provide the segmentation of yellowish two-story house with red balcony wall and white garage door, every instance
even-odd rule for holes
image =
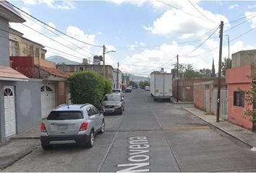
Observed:
[[[41,114],[46,117],[57,105],[68,103],[69,75],[56,69],[55,63],[46,60],[43,45],[23,37],[21,32],[12,28],[9,28],[9,33],[12,68],[30,79],[40,79]]]

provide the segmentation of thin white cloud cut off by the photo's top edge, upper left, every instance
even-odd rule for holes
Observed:
[[[27,5],[46,4],[51,9],[74,9],[74,4],[72,1],[25,0],[24,4],[27,4]]]

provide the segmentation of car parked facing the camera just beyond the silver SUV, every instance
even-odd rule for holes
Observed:
[[[124,111],[124,97],[120,93],[106,94],[101,102],[103,112],[122,114]]]

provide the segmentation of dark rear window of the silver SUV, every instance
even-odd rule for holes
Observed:
[[[80,111],[51,111],[47,120],[79,120],[82,118]]]

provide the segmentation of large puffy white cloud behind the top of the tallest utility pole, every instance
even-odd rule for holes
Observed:
[[[178,9],[169,9],[168,11],[164,12],[161,17],[155,19],[153,25],[144,27],[145,30],[150,31],[155,35],[176,35],[179,38],[188,38],[204,35],[205,32],[208,32],[208,30],[217,27],[218,22],[221,20],[225,23],[228,22],[228,19],[223,15],[213,14],[212,12],[202,9],[200,6],[197,6],[197,4],[195,4],[197,9],[199,9],[200,12],[205,14],[205,16],[213,22],[198,14],[197,10],[193,8],[193,6],[189,6],[188,3],[181,5],[183,5],[182,10],[202,19],[193,17]],[[229,27],[229,24],[226,25],[226,27]]]

